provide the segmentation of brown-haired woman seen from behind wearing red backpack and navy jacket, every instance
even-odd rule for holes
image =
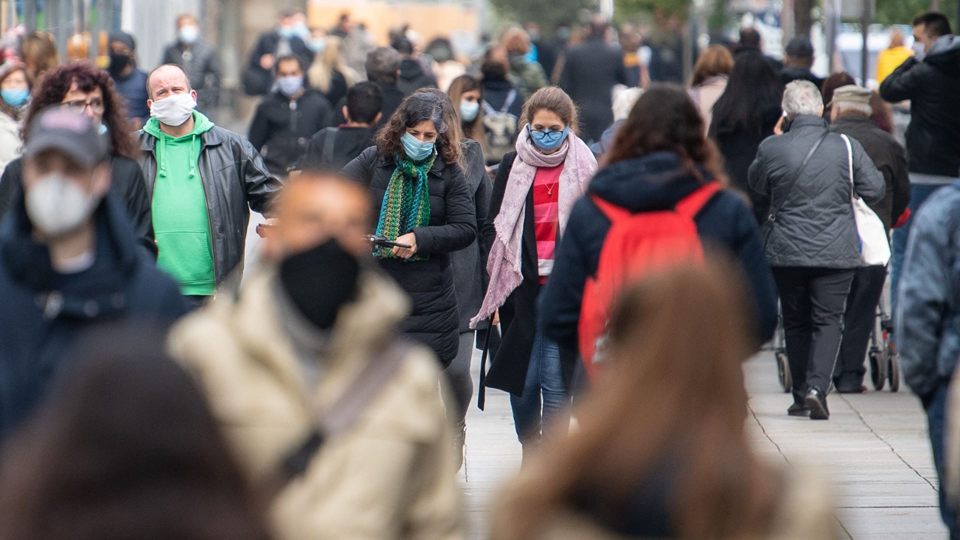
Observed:
[[[683,254],[684,241],[699,243],[701,254],[704,248],[719,248],[736,258],[751,285],[746,304],[752,317],[746,328],[754,331],[756,346],[773,336],[777,291],[756,221],[740,195],[723,189],[716,149],[704,133],[703,116],[681,86],[658,83],[643,92],[607,154],[607,165],[590,183],[588,197],[570,214],[540,302],[540,328],[548,338],[571,351],[593,351],[595,342],[581,342],[586,336],[581,329],[588,328],[594,313],[591,299],[599,298],[594,287],[602,286],[596,282],[602,262],[618,250],[638,250],[622,253],[624,278],[636,280],[664,262],[691,260],[676,255]],[[672,209],[693,226],[687,231],[696,238],[684,236],[675,222],[656,221]],[[610,306],[601,307],[607,312]],[[589,367],[592,357],[582,356]]]

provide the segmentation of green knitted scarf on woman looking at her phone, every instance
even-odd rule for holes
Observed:
[[[430,191],[427,188],[427,172],[433,168],[437,159],[434,154],[428,160],[415,163],[399,153],[394,155],[396,170],[387,184],[383,195],[383,207],[380,209],[380,221],[376,224],[376,233],[391,239],[410,233],[418,227],[430,224]],[[373,257],[398,258],[390,253],[390,248],[375,248]],[[402,260],[426,260],[428,254],[417,254]]]

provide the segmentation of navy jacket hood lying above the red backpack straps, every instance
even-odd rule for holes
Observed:
[[[684,167],[673,152],[657,152],[617,161],[597,173],[589,191],[632,212],[671,209],[698,187],[712,180],[701,166]]]

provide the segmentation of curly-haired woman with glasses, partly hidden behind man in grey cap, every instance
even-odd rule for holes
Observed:
[[[24,126],[29,126],[40,110],[58,104],[100,124],[100,132],[109,139],[110,192],[125,203],[139,243],[156,258],[147,183],[139,165],[132,160],[136,146],[127,123],[127,112],[109,74],[90,61],[71,61],[48,72],[34,87]],[[28,142],[26,130],[23,142]],[[23,200],[21,174],[20,160],[12,160],[0,178],[0,217],[6,215],[16,201]]]

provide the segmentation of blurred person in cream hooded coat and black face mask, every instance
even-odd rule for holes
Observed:
[[[292,179],[276,265],[171,332],[248,477],[277,490],[281,539],[463,538],[437,360],[400,340],[410,303],[364,257],[371,207],[362,184]]]

